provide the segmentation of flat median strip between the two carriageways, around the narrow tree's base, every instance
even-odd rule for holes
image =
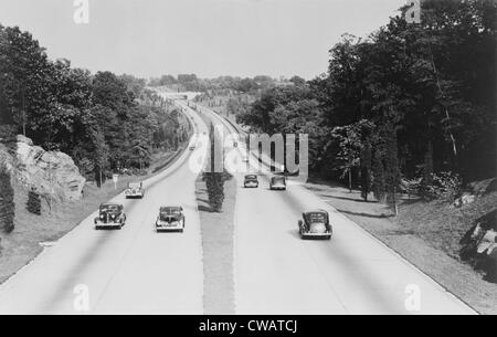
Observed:
[[[233,231],[236,180],[224,182],[222,212],[212,212],[205,182],[195,183],[203,250],[203,303],[205,315],[234,315]]]

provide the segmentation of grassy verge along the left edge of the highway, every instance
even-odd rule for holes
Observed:
[[[14,182],[15,228],[12,233],[0,233],[0,284],[35,259],[42,251],[41,243],[57,241],[96,211],[101,203],[121,193],[128,182],[145,180],[166,169],[173,162],[178,151],[157,154],[146,176],[120,176],[115,189],[107,180],[102,188],[87,182],[83,198],[74,202],[52,202],[52,207],[42,200],[42,215],[27,210],[28,189]],[[158,169],[159,168],[159,169]]]

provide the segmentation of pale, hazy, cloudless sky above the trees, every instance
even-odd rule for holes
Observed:
[[[342,33],[366,36],[405,0],[0,0],[0,23],[33,33],[52,59],[138,76],[326,72]]]

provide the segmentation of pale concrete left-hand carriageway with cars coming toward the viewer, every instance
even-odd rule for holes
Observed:
[[[197,114],[187,114],[198,133],[207,131]],[[0,314],[202,314],[197,175],[189,156],[147,180],[144,200],[112,200],[125,206],[123,230],[94,230],[95,212],[3,283]],[[183,207],[184,233],[155,232],[159,207],[168,204]]]

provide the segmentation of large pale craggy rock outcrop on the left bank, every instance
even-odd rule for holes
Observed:
[[[86,181],[70,156],[45,151],[24,136],[18,136],[17,140],[14,176],[18,181],[60,201],[81,198]]]

